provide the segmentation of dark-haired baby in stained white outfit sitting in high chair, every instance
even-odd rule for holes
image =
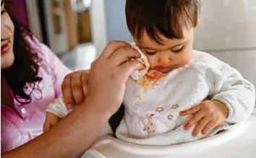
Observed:
[[[199,10],[197,0],[127,0],[132,46],[146,69],[126,83],[118,139],[147,146],[182,144],[236,126],[252,113],[253,84],[227,63],[192,50]],[[59,117],[69,112],[59,101],[47,111]]]

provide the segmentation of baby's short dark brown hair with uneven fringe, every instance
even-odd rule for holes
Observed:
[[[142,32],[162,45],[160,35],[168,39],[183,38],[182,30],[196,27],[199,0],[127,0],[127,27],[138,40]]]

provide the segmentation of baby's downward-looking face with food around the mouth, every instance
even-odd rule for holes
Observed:
[[[150,62],[150,69],[168,73],[189,62],[192,55],[194,28],[183,31],[183,39],[170,40],[162,38],[163,45],[151,40],[147,33],[142,34],[140,42],[134,38],[136,45],[143,51]]]

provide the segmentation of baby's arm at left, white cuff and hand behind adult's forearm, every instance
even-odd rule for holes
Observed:
[[[47,131],[49,128],[59,122],[60,118],[64,118],[70,111],[64,104],[62,95],[56,98],[46,109],[46,120],[43,124],[43,131]]]

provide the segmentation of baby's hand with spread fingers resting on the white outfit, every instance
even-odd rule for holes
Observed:
[[[223,102],[218,100],[206,100],[199,105],[195,105],[188,110],[179,113],[180,115],[192,115],[192,118],[184,126],[184,130],[188,130],[194,124],[197,124],[192,136],[198,133],[207,134],[216,126],[223,123],[229,114],[229,110]]]

